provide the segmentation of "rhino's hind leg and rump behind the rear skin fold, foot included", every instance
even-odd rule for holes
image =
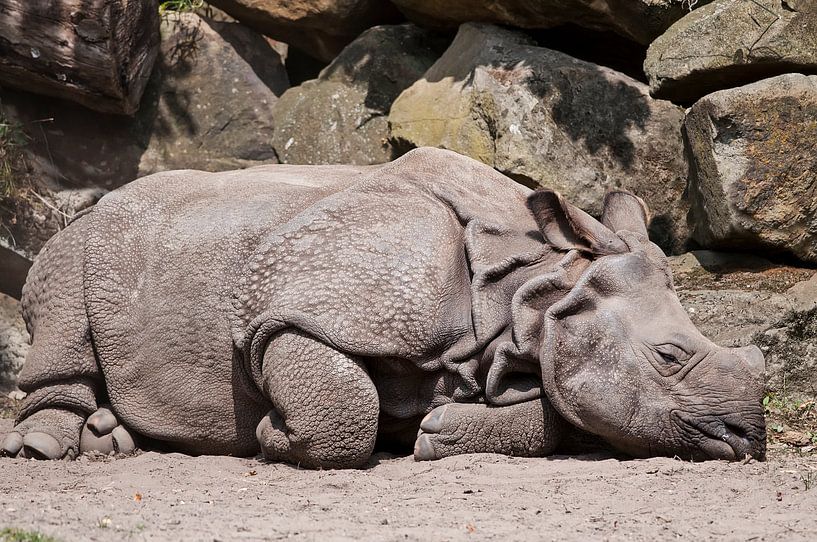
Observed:
[[[43,247],[23,289],[32,345],[20,374],[28,393],[0,453],[40,459],[74,457],[80,431],[104,389],[83,296],[87,219],[80,217]]]

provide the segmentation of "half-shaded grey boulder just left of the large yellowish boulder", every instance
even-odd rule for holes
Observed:
[[[289,89],[275,104],[278,159],[358,165],[391,160],[391,104],[437,60],[441,45],[412,24],[361,34],[317,79]]]

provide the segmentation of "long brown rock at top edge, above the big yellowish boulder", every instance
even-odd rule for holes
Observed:
[[[392,0],[419,24],[440,28],[480,21],[520,28],[552,28],[574,23],[597,30],[613,30],[647,45],[686,14],[689,4],[708,0]]]

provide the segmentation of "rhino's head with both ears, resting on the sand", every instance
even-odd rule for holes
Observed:
[[[543,318],[542,383],[562,416],[635,456],[762,459],[763,354],[695,328],[643,201],[611,192],[600,222],[554,192],[528,204],[552,246],[590,261]]]

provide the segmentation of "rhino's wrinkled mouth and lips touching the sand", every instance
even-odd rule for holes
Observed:
[[[735,461],[746,456],[762,460],[765,435],[756,438],[754,431],[733,417],[698,417],[675,412],[695,447],[709,459]]]

